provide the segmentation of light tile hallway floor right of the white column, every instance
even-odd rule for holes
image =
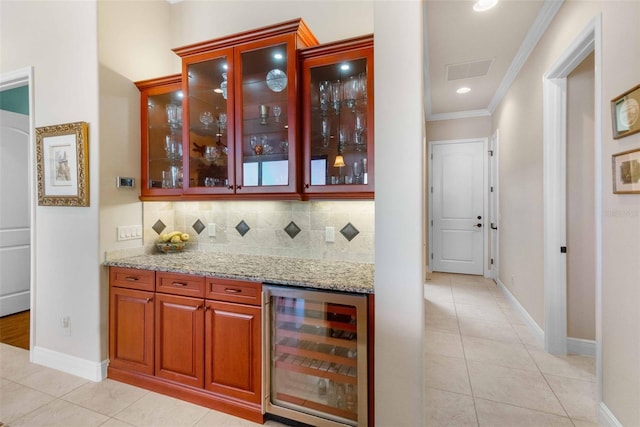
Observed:
[[[595,360],[552,356],[492,280],[425,285],[426,426],[597,426]]]

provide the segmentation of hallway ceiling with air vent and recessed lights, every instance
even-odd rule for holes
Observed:
[[[491,115],[562,0],[501,0],[485,12],[474,3],[424,2],[427,120]]]

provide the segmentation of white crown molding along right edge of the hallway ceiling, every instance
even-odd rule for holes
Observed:
[[[509,69],[505,73],[502,82],[500,82],[500,86],[498,86],[496,93],[493,95],[491,102],[489,102],[489,105],[487,106],[487,110],[489,110],[491,114],[493,114],[498,105],[500,105],[500,102],[502,102],[502,98],[504,98],[511,87],[511,84],[516,77],[518,77],[518,73],[522,69],[522,66],[527,62],[529,55],[531,55],[531,52],[533,52],[533,49],[535,49],[540,39],[547,31],[547,28],[549,28],[551,21],[553,21],[553,18],[555,18],[563,3],[564,0],[545,0],[540,12],[538,12],[536,20],[529,29],[520,49],[516,53]]]

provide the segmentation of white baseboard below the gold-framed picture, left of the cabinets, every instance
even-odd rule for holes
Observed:
[[[33,347],[31,361],[67,374],[99,382],[107,377],[108,360],[92,362],[42,347]]]

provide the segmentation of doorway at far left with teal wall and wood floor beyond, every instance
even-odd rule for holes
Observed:
[[[0,74],[0,333],[2,341],[30,350],[34,316],[33,68]]]

